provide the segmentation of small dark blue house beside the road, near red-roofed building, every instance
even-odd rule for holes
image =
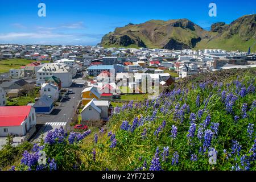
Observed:
[[[36,101],[33,107],[35,108],[36,113],[51,114],[54,107],[53,100],[50,97],[43,95],[38,101]]]

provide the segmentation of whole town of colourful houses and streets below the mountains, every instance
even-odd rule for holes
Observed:
[[[97,130],[114,107],[143,101],[180,78],[256,67],[256,55],[222,49],[0,46],[0,146],[38,142],[59,127]],[[143,77],[149,85],[143,88]]]

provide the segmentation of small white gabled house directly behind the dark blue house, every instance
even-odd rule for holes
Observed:
[[[49,96],[52,100],[57,101],[59,98],[59,89],[56,85],[53,84],[42,84],[40,90],[40,96]]]

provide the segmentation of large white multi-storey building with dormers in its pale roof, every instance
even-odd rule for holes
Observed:
[[[72,71],[65,64],[48,63],[37,66],[36,70],[36,85],[44,84],[46,77],[55,76],[60,78],[62,87],[69,87],[72,85]]]

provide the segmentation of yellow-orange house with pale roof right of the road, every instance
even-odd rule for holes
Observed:
[[[90,101],[92,101],[93,98],[98,100],[100,97],[101,97],[101,94],[98,93],[98,90],[96,87],[91,86],[91,87],[85,88],[84,90],[82,90],[82,105],[85,106]]]

